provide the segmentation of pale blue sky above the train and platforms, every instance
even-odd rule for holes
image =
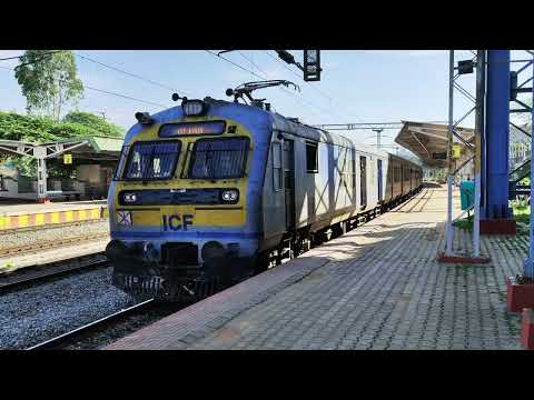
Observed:
[[[105,112],[108,121],[125,129],[131,127],[137,111],[158,112],[171,101],[174,91],[188,98],[210,96],[228,99],[227,88],[260,80],[205,50],[72,50],[78,74],[86,86],[77,104],[81,111]],[[301,50],[290,50],[301,62]],[[0,59],[20,56],[23,50],[0,50]],[[140,76],[156,83],[105,68],[80,56]],[[322,50],[322,79],[304,82],[303,72],[277,58],[273,50],[241,50],[222,54],[268,79],[287,79],[300,87],[268,88],[256,92],[267,98],[273,109],[286,117],[298,117],[308,124],[408,121],[446,121],[448,118],[447,50]],[[465,56],[465,57],[464,57]],[[463,58],[462,58],[463,57]],[[457,59],[473,58],[459,51]],[[0,110],[26,113],[26,98],[9,70],[18,60],[0,61]],[[464,79],[464,77],[462,77]],[[473,90],[474,74],[465,76],[462,84]],[[106,90],[156,104],[142,103],[90,90]],[[175,89],[175,90],[172,90]],[[458,96],[456,96],[457,98]],[[455,99],[456,99],[455,98]],[[467,110],[462,96],[455,108]],[[472,119],[466,120],[467,127]],[[384,143],[392,143],[396,131],[384,131]],[[372,131],[352,131],[347,136],[373,143]]]

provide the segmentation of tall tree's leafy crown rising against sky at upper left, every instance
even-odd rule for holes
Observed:
[[[27,50],[20,61],[14,77],[29,113],[39,111],[59,121],[63,106],[76,103],[82,97],[83,84],[77,77],[71,51]]]

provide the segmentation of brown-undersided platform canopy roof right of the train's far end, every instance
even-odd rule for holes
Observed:
[[[395,138],[395,142],[412,151],[426,167],[443,168],[447,162],[447,124],[402,121],[403,128]],[[457,127],[454,129],[459,136],[455,141],[462,146],[462,153],[466,153],[466,146],[462,142],[473,142],[474,130]]]

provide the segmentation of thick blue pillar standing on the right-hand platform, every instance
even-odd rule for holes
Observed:
[[[508,219],[510,50],[487,51],[485,203],[481,219]]]

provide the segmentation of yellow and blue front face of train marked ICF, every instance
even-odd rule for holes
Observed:
[[[195,282],[254,268],[257,218],[247,210],[258,208],[249,186],[261,163],[253,157],[255,124],[219,111],[162,116],[126,138],[108,199],[106,250],[120,289],[180,298]]]

